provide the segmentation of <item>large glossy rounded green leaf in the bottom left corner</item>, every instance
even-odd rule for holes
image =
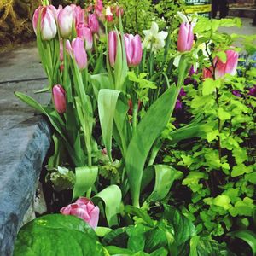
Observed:
[[[84,220],[71,215],[50,214],[23,226],[15,241],[15,256],[109,255]]]

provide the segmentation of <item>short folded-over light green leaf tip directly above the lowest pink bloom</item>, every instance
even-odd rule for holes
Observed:
[[[93,186],[98,176],[98,166],[77,167],[75,172],[76,183],[73,188],[73,199],[83,196]]]

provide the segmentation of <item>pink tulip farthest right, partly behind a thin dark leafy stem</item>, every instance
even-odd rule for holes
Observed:
[[[215,78],[220,79],[224,77],[226,73],[230,73],[231,75],[236,74],[236,67],[238,63],[238,53],[235,50],[228,49],[225,51],[227,56],[227,60],[222,62],[218,57],[214,59],[214,63],[216,64],[215,69]]]

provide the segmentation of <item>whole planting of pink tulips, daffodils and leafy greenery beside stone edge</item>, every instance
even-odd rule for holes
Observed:
[[[131,26],[132,4],[35,11],[52,103],[15,95],[53,126],[45,179],[67,197],[20,229],[15,255],[255,254],[255,37],[179,1],[145,1]]]

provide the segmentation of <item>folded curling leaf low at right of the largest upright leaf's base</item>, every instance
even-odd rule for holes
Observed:
[[[154,190],[148,196],[147,201],[159,201],[166,197],[172,187],[177,174],[177,170],[172,166],[155,165],[152,166],[155,172]]]

